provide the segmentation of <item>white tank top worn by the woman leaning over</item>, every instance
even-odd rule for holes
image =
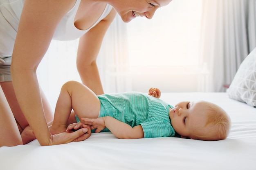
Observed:
[[[0,58],[12,55],[24,1],[25,0],[0,0]],[[74,7],[63,17],[54,32],[53,39],[73,40],[81,37],[105,18],[112,9],[112,6],[107,4],[101,17],[99,17],[89,29],[79,30],[74,25],[74,17],[80,2],[81,0],[77,0]]]

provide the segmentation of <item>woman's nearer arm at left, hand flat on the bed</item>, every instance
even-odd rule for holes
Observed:
[[[51,135],[36,76],[38,64],[49,47],[58,22],[74,3],[75,0],[26,0],[13,48],[13,87],[22,112],[42,146],[71,142],[86,130],[71,135]]]

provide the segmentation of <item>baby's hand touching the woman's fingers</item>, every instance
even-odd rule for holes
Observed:
[[[91,126],[91,129],[96,129],[95,133],[98,133],[106,128],[104,117],[102,118],[81,118],[80,120],[83,124],[88,124]]]

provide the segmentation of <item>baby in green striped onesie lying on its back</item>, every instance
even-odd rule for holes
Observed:
[[[159,99],[159,89],[150,88],[148,94],[126,92],[96,96],[85,85],[69,81],[61,88],[49,129],[56,134],[87,127],[88,137],[94,129],[95,133],[111,131],[122,139],[173,137],[175,133],[199,140],[227,137],[230,120],[217,105],[194,101],[180,102],[173,107]]]

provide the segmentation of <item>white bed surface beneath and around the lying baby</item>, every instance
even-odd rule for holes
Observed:
[[[256,108],[229,99],[226,93],[163,93],[175,105],[184,100],[207,100],[231,118],[231,131],[221,141],[177,137],[117,139],[95,133],[82,142],[0,148],[0,170],[256,170]]]

